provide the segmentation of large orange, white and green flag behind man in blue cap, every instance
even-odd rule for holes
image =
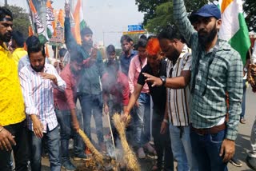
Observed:
[[[226,40],[241,55],[246,63],[246,53],[250,48],[250,38],[246,21],[243,16],[242,0],[219,0],[222,12],[222,26],[219,38]]]

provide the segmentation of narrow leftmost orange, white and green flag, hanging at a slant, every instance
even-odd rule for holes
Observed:
[[[37,31],[38,39],[42,44],[44,44],[48,41],[46,30],[42,25],[42,20],[41,20],[40,16],[38,15],[37,10],[35,9],[33,2],[30,0],[29,3],[30,3],[30,10],[31,10],[31,13],[33,16],[33,23],[35,23],[35,25],[36,25],[35,30]]]

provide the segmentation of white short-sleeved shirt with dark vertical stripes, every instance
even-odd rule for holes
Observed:
[[[175,78],[181,75],[182,71],[191,70],[191,54],[190,49],[184,45],[182,54],[180,54],[177,62],[168,60],[166,66],[167,78]],[[171,72],[171,73],[170,73]],[[170,75],[171,74],[171,75]],[[189,117],[189,100],[190,87],[185,89],[170,89],[167,88],[167,113],[170,122],[174,126],[187,126],[190,124]]]

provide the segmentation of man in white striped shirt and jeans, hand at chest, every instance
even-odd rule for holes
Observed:
[[[38,38],[31,36],[26,42],[30,65],[19,72],[25,99],[27,126],[30,129],[30,165],[34,171],[41,170],[42,142],[50,157],[50,169],[60,170],[58,121],[54,112],[54,88],[64,91],[66,82],[57,74],[54,66],[46,64],[44,47]]]

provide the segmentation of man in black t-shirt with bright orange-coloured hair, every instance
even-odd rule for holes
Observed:
[[[138,76],[138,84],[134,88],[134,93],[130,96],[129,104],[126,108],[122,120],[126,121],[126,117],[129,115],[130,110],[137,101],[143,85],[146,83],[146,77],[143,73],[154,75],[155,77],[165,76],[166,78],[166,61],[162,58],[161,49],[157,38],[149,40],[146,46],[147,51],[147,65],[142,68],[142,72]],[[150,94],[153,99],[153,119],[152,119],[152,134],[154,137],[154,145],[158,155],[157,165],[154,165],[152,170],[162,169],[162,157],[164,156],[164,170],[174,170],[173,154],[170,145],[170,133],[161,134],[161,123],[164,120],[164,114],[166,109],[166,87],[165,86],[151,86]],[[165,154],[165,155],[164,155]]]

